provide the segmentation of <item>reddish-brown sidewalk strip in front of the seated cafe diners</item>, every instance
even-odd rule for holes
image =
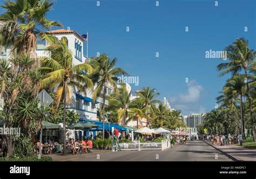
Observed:
[[[107,153],[110,152],[110,150],[91,150],[91,153],[87,153],[87,154],[77,154],[77,155],[66,155],[63,156],[62,154],[51,154],[51,155],[44,155],[44,156],[49,156],[52,158],[52,161],[58,161],[58,162],[64,162],[64,161],[70,161],[73,159],[77,159],[80,157],[85,157],[85,156],[89,156],[89,155],[97,155],[97,154],[103,154],[103,153]]]

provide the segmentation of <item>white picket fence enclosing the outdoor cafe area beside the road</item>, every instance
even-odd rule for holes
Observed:
[[[171,147],[170,140],[163,140],[161,142],[139,142],[133,141],[130,143],[119,143],[120,149],[123,151],[131,150],[164,150]]]

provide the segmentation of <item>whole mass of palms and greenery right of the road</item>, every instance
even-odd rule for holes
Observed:
[[[210,133],[242,134],[244,137],[253,136],[255,141],[255,54],[249,48],[248,40],[235,39],[225,48],[228,61],[221,63],[217,69],[219,77],[231,73],[227,79],[217,103],[220,104],[207,114],[206,121],[201,127]],[[245,133],[245,129],[248,132]],[[250,132],[249,132],[250,131]]]

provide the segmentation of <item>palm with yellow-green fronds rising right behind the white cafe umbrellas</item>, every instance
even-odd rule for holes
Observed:
[[[145,110],[145,115],[147,117],[147,126],[150,125],[149,120],[154,118],[155,106],[160,104],[161,101],[155,99],[160,93],[156,92],[156,89],[151,89],[150,87],[143,87],[141,91],[137,92],[138,100],[143,103],[143,109]]]

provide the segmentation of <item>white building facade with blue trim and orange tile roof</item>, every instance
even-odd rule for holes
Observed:
[[[84,43],[86,40],[80,36],[74,30],[53,30],[48,31],[51,35],[57,37],[59,40],[63,37],[66,38],[68,42],[69,50],[72,52],[72,65],[78,65],[89,61],[89,58],[84,56]],[[50,53],[45,51],[45,47],[49,44],[47,42],[43,44],[37,44],[37,57],[50,57]],[[1,48],[0,58],[10,59],[11,49]],[[97,83],[94,84],[93,89],[97,87]],[[67,109],[76,111],[80,115],[80,120],[98,120],[97,119],[97,110],[103,104],[102,94],[99,95],[96,102],[92,100],[92,90],[86,90],[86,95],[79,92],[76,87],[69,87],[70,91],[70,101],[71,103],[67,106]],[[111,94],[113,91],[111,85],[107,84],[107,95]],[[106,100],[106,105],[109,102]]]

